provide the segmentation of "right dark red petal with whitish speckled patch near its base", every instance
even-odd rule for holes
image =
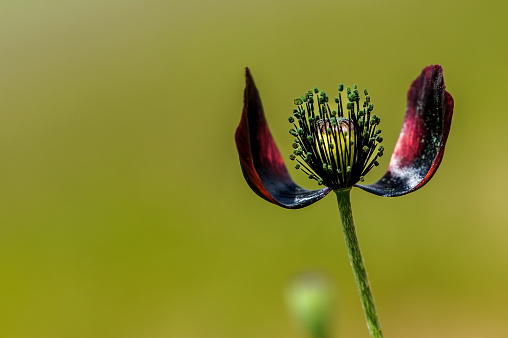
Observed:
[[[443,159],[452,115],[453,98],[445,90],[443,69],[425,68],[407,93],[406,117],[388,171],[376,183],[357,187],[380,196],[423,187]]]

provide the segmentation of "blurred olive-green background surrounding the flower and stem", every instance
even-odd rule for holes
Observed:
[[[369,89],[389,154],[411,81],[439,63],[443,163],[404,197],[355,189],[358,235],[386,337],[506,337],[507,9],[2,1],[0,336],[303,338],[284,290],[318,270],[334,337],[367,337],[335,199],[284,210],[244,182],[244,67],[283,153],[293,98],[343,82]]]

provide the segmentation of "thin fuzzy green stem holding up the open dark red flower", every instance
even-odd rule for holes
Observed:
[[[358,291],[360,292],[360,299],[362,301],[370,335],[373,338],[382,338],[383,333],[381,332],[381,325],[377,317],[374,297],[370,291],[367,271],[365,270],[362,254],[360,252],[360,245],[356,237],[355,223],[353,221],[351,201],[349,198],[350,192],[351,189],[335,190],[337,194],[337,203],[339,204],[340,219],[342,220],[342,230],[344,231],[349,260],[353,268]]]

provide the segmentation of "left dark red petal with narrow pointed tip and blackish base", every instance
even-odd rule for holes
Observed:
[[[256,194],[284,208],[303,208],[325,197],[330,189],[307,190],[293,182],[268,129],[248,68],[245,77],[242,119],[235,134],[245,180]]]

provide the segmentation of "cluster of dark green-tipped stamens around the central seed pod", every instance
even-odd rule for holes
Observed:
[[[381,129],[377,129],[380,118],[372,114],[374,104],[370,102],[367,89],[360,109],[360,95],[356,85],[346,88],[348,102],[346,112],[342,105],[344,85],[339,85],[339,96],[335,97],[337,109],[330,109],[328,95],[317,87],[294,100],[296,108],[289,122],[293,128],[289,133],[295,137],[291,160],[298,162],[296,169],[302,170],[319,185],[338,190],[352,187],[374,167],[379,165],[384,147]],[[315,95],[314,95],[315,94]],[[376,149],[377,148],[377,149]]]

